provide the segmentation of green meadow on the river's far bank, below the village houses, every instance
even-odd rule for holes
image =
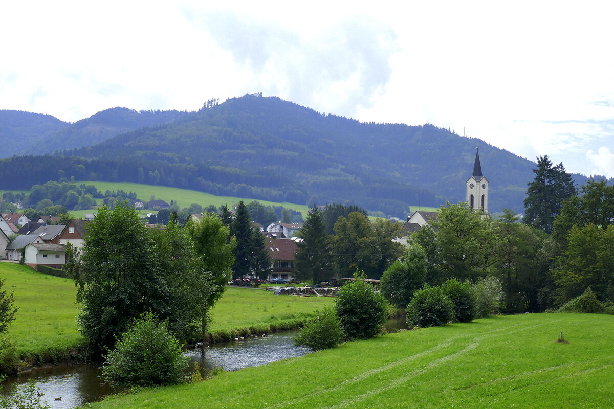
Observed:
[[[9,335],[22,356],[42,356],[84,342],[77,331],[74,281],[8,262],[0,262],[0,278],[6,278],[4,289],[14,293],[19,307]],[[274,296],[262,289],[226,290],[212,310],[211,332],[294,323],[332,302],[330,297]]]

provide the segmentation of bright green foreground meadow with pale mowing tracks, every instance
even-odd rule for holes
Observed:
[[[554,343],[559,332],[569,344]],[[93,408],[610,408],[614,319],[535,314],[345,343]]]

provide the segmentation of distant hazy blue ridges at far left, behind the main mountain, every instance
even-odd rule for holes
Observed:
[[[136,111],[112,108],[68,123],[51,115],[0,111],[0,157],[42,155],[56,150],[95,145],[119,134],[181,120],[193,112]],[[18,142],[18,143],[16,143]]]

